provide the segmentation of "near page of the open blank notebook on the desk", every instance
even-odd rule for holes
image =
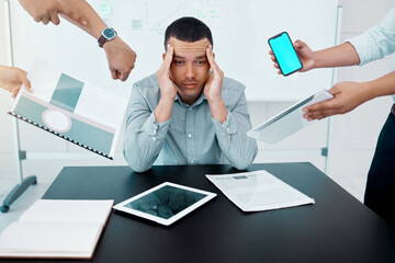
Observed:
[[[13,222],[0,236],[0,255],[89,258],[101,228],[100,222]]]

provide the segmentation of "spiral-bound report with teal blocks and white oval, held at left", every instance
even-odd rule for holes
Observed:
[[[113,159],[127,100],[36,59],[9,114],[94,153]]]

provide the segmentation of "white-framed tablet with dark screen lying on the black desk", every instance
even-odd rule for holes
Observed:
[[[115,205],[114,209],[169,226],[215,196],[206,191],[165,182]]]

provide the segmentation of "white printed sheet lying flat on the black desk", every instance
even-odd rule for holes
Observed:
[[[244,211],[314,204],[314,199],[264,170],[223,175],[206,174],[206,178]]]

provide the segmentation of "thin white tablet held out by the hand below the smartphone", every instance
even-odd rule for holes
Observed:
[[[314,122],[308,122],[303,117],[304,107],[330,99],[334,99],[332,94],[320,90],[247,132],[247,136],[269,144],[279,142]]]

